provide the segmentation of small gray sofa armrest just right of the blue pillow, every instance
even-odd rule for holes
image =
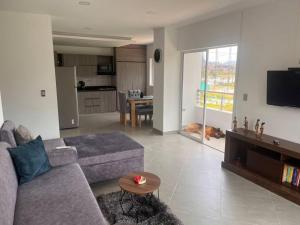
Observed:
[[[50,165],[53,167],[64,166],[77,162],[77,150],[72,146],[62,146],[55,149],[48,149],[46,152]]]

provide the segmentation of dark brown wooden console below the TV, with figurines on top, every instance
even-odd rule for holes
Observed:
[[[226,132],[223,168],[300,205],[300,188],[282,183],[285,164],[300,168],[300,144],[269,135],[260,138],[242,128]]]

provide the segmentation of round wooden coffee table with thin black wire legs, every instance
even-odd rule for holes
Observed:
[[[144,176],[146,177],[145,184],[136,184],[134,182],[135,176]],[[134,195],[139,195],[151,200],[153,197],[153,193],[157,191],[157,196],[159,199],[159,186],[160,186],[160,178],[153,173],[148,172],[134,172],[129,173],[128,175],[121,177],[119,179],[119,186],[121,188],[121,196],[120,196],[120,206],[122,208],[123,214],[129,215],[130,211],[133,207],[138,204],[134,199]],[[131,207],[128,209],[127,212],[123,209],[123,199],[125,194],[129,194],[131,201]],[[136,220],[138,222],[138,211],[135,214]]]

